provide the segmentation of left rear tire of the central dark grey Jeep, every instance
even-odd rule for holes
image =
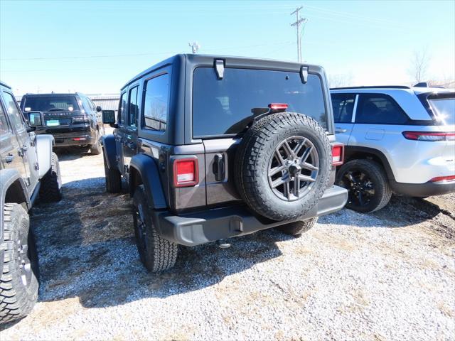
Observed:
[[[133,207],[134,234],[142,263],[150,272],[170,269],[176,264],[178,245],[162,238],[156,229],[144,185],[134,191]]]

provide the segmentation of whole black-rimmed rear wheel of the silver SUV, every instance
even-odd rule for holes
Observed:
[[[357,212],[380,210],[392,197],[384,170],[371,160],[345,163],[336,173],[336,185],[348,190],[346,207]]]

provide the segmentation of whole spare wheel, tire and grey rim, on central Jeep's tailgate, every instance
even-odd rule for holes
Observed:
[[[311,117],[270,114],[245,132],[235,169],[237,190],[251,210],[272,220],[296,220],[326,189],[331,146]]]

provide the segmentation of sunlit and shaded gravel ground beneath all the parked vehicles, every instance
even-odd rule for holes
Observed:
[[[298,239],[182,248],[175,268],[148,274],[102,156],[60,160],[64,200],[33,210],[38,303],[1,341],[455,340],[455,195],[342,210]]]

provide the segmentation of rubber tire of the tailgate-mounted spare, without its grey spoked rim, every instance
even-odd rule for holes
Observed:
[[[319,173],[311,190],[298,200],[280,199],[270,188],[269,160],[291,136],[309,139],[319,154]],[[257,121],[243,136],[235,156],[237,190],[251,210],[271,220],[299,219],[317,204],[331,172],[331,145],[317,121],[304,114],[282,112]]]

